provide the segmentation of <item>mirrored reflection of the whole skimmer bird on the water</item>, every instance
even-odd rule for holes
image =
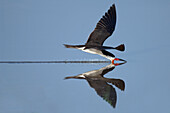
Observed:
[[[89,85],[95,89],[97,94],[115,108],[116,101],[117,101],[116,91],[115,88],[113,88],[113,86],[109,85],[108,83],[115,85],[117,88],[121,89],[122,91],[125,89],[125,83],[121,79],[105,78],[103,77],[103,75],[112,71],[116,65],[110,64],[99,70],[89,71],[83,74],[79,74],[77,76],[69,76],[66,77],[65,79],[70,79],[70,78],[86,79]]]

